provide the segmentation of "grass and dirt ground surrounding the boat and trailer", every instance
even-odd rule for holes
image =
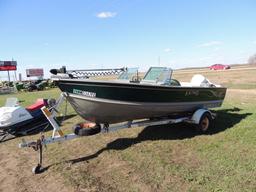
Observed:
[[[0,143],[0,192],[256,191],[255,71],[203,72],[232,88],[215,110],[215,127],[207,135],[189,125],[168,125],[82,137],[49,145],[44,151],[47,171],[36,176],[30,171],[36,153],[18,149],[21,138]],[[174,76],[187,80],[190,73],[195,71]],[[59,93],[53,89],[15,96],[26,106]],[[0,105],[6,97],[0,96]],[[79,121],[78,116],[67,119],[63,128],[68,132]]]

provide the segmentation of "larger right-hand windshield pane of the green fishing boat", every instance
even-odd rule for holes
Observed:
[[[166,82],[171,79],[172,69],[167,67],[150,67],[143,81]]]

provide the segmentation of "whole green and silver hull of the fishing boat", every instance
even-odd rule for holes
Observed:
[[[226,88],[192,88],[131,83],[61,80],[59,88],[84,119],[118,123],[220,107]]]

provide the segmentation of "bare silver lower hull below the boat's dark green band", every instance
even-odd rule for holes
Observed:
[[[222,100],[180,103],[132,103],[106,99],[91,99],[69,94],[69,103],[84,119],[96,123],[118,123],[134,119],[185,114],[199,108],[219,107]]]

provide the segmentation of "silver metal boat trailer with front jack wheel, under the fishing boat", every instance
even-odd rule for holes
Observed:
[[[61,127],[56,122],[55,117],[58,112],[57,109],[66,99],[66,96],[67,95],[65,93],[61,93],[61,96],[58,99],[57,104],[54,106],[54,108],[52,107],[51,109],[48,109],[45,106],[41,108],[47,120],[50,122],[50,124],[53,127],[52,136],[46,138],[41,133],[41,136],[37,141],[26,142],[24,139],[22,139],[22,143],[19,144],[19,148],[31,147],[35,151],[38,151],[38,164],[32,169],[32,172],[34,174],[38,174],[44,171],[44,168],[42,167],[43,146],[46,147],[46,145],[51,143],[63,142],[63,141],[72,140],[78,137],[82,137],[82,135],[79,135],[76,133],[64,134],[63,131],[61,130]],[[119,123],[117,125],[111,125],[111,127],[109,127],[108,124],[104,124],[102,126],[101,131],[99,132],[106,133],[106,132],[117,131],[124,128],[146,127],[146,126],[156,126],[156,125],[166,125],[166,124],[176,124],[176,123],[186,122],[186,123],[197,125],[197,129],[200,132],[205,133],[212,126],[213,124],[212,120],[215,117],[216,117],[216,114],[210,112],[208,109],[198,109],[189,116],[178,117],[178,118],[162,117],[157,119],[135,120],[135,121],[128,121],[121,124]]]

